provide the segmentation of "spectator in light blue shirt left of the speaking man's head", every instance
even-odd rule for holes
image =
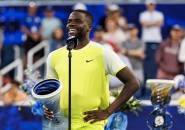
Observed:
[[[41,23],[42,38],[51,40],[52,34],[55,29],[61,28],[61,21],[54,16],[54,10],[51,6],[46,7],[45,17]]]

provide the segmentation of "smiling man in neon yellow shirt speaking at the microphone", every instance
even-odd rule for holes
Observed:
[[[72,50],[72,130],[104,130],[105,120],[119,109],[139,88],[132,72],[109,49],[89,40],[93,18],[83,10],[74,10],[68,19],[69,36],[78,38]],[[108,74],[124,84],[120,96],[109,105]],[[48,56],[47,77],[63,83],[61,110],[68,115],[68,50],[60,48]],[[52,112],[46,117],[52,118]],[[45,112],[46,114],[46,112]]]

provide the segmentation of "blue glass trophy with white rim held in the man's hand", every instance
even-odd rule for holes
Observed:
[[[52,120],[43,117],[43,130],[66,130],[68,127],[68,120],[60,109],[61,90],[62,84],[56,79],[43,80],[32,88],[32,97],[54,115]]]

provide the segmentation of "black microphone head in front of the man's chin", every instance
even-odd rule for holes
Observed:
[[[72,50],[78,45],[78,39],[75,36],[70,36],[67,39],[67,50]]]

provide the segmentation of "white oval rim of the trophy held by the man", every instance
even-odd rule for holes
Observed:
[[[51,82],[51,81],[55,81],[55,82],[58,82],[58,83],[59,83],[59,87],[58,87],[57,90],[55,90],[54,92],[52,92],[52,93],[50,93],[50,94],[46,94],[46,95],[38,95],[38,94],[36,94],[36,93],[34,92],[34,89],[35,89],[36,86],[41,85],[41,84],[45,84],[45,83]],[[58,93],[61,92],[61,90],[62,90],[62,83],[61,83],[59,80],[57,80],[57,79],[46,79],[46,80],[43,80],[43,81],[37,83],[37,84],[32,88],[31,94],[32,94],[32,96],[33,96],[34,98],[36,98],[36,99],[47,99],[47,98],[51,98],[51,97],[57,95]]]

